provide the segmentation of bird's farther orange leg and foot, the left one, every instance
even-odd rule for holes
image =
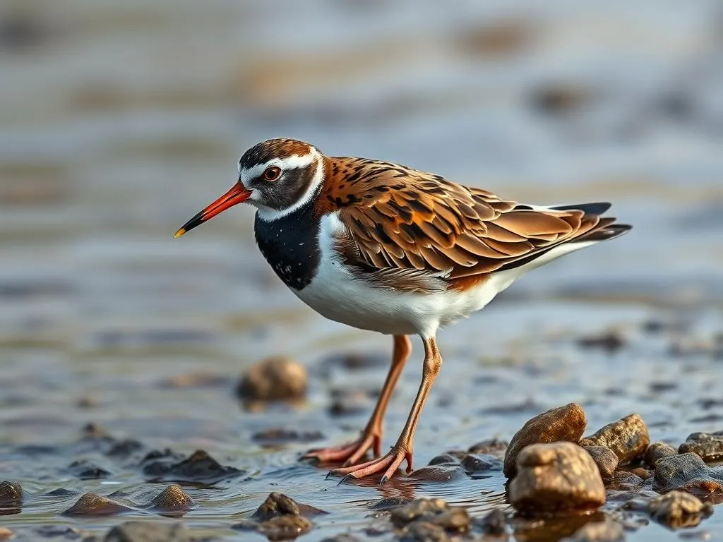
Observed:
[[[392,364],[372,417],[369,418],[364,431],[361,431],[361,437],[342,446],[309,450],[303,459],[315,459],[322,462],[344,461],[346,466],[354,465],[369,449],[374,449],[375,456],[380,455],[382,448],[382,420],[409,353],[411,353],[411,340],[409,340],[409,337],[394,335]]]

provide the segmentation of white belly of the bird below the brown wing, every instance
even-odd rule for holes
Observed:
[[[336,322],[388,335],[433,337],[440,326],[482,309],[514,280],[500,273],[464,292],[408,293],[377,287],[351,275],[335,256],[333,233],[340,225],[334,215],[322,219],[317,274],[303,290],[292,288],[301,301]]]

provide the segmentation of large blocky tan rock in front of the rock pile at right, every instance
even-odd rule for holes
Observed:
[[[532,444],[520,453],[517,467],[508,489],[520,512],[590,510],[605,502],[600,471],[577,444]]]

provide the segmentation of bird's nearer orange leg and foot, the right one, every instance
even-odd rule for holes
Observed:
[[[380,483],[385,483],[393,476],[399,465],[405,460],[407,463],[406,471],[410,473],[416,424],[419,422],[419,415],[422,413],[422,408],[424,408],[424,402],[427,400],[429,390],[432,389],[432,384],[435,382],[435,378],[441,367],[442,356],[440,356],[440,351],[437,350],[436,340],[433,337],[431,339],[424,339],[422,384],[419,386],[419,392],[416,394],[414,405],[412,405],[411,412],[409,413],[402,434],[399,435],[397,443],[394,444],[390,452],[384,457],[367,461],[367,463],[361,463],[361,465],[354,465],[353,467],[337,468],[332,470],[330,474],[343,476],[344,478],[342,478],[341,481],[345,481],[348,478],[364,478],[365,476],[383,472],[384,475]]]

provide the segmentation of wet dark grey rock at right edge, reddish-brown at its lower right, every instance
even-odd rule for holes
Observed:
[[[709,467],[697,454],[662,457],[655,463],[653,485],[660,491],[723,493],[723,467]]]

